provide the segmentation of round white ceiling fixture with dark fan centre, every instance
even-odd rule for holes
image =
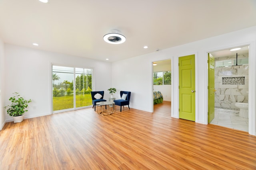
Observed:
[[[111,30],[108,34],[104,35],[103,37],[104,41],[110,44],[122,44],[124,41],[126,41],[126,38],[124,35],[120,34],[120,31],[118,30]]]

